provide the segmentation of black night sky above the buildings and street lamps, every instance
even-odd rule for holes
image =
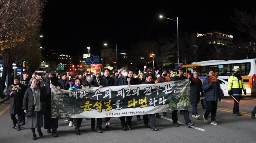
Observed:
[[[76,52],[99,55],[103,43],[118,44],[119,49],[129,49],[142,37],[157,39],[177,33],[218,31],[236,38],[241,33],[230,17],[234,9],[249,9],[253,4],[237,3],[235,6],[223,1],[207,1],[208,4],[187,2],[82,2],[70,0],[48,0],[42,24],[42,45],[45,50],[75,55]],[[255,5],[255,4],[254,4]],[[256,8],[256,6],[254,6]]]

